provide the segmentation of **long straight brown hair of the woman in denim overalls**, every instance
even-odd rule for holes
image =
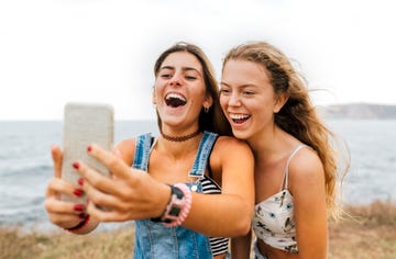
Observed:
[[[201,64],[204,71],[204,80],[206,94],[210,95],[213,100],[213,104],[210,106],[208,112],[205,112],[204,109],[199,114],[199,130],[201,131],[210,131],[218,133],[219,135],[231,136],[232,131],[230,123],[221,111],[220,102],[219,102],[219,88],[218,81],[216,80],[216,74],[211,63],[208,57],[205,55],[204,50],[189,43],[178,42],[170,46],[168,49],[163,52],[154,65],[154,76],[155,78],[158,76],[162,64],[165,58],[172,54],[177,52],[187,52],[193,54]],[[161,130],[162,121],[157,113],[157,123]]]

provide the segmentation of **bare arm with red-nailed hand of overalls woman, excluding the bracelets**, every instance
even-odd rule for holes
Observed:
[[[124,153],[122,149],[121,157],[117,157],[92,145],[90,155],[111,170],[112,179],[80,162],[77,171],[87,180],[82,189],[92,201],[88,213],[105,222],[157,217],[167,204],[170,188],[146,172],[131,169],[132,161],[127,159],[131,154]],[[222,194],[193,193],[193,206],[183,225],[210,236],[245,235],[254,203],[253,155],[246,144],[221,137],[212,156],[213,170],[222,173]]]

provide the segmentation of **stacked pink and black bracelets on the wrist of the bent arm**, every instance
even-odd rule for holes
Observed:
[[[176,183],[170,185],[172,194],[170,201],[166,205],[165,213],[161,221],[164,226],[174,227],[179,226],[186,219],[191,209],[191,191],[184,183]]]

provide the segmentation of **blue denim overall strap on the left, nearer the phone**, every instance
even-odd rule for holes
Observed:
[[[151,133],[139,135],[136,137],[136,146],[132,165],[133,168],[147,171],[152,144],[153,137],[151,136]]]

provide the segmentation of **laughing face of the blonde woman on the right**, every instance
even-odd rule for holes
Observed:
[[[230,59],[223,67],[220,104],[235,137],[250,139],[274,126],[274,113],[283,105],[263,66]]]

